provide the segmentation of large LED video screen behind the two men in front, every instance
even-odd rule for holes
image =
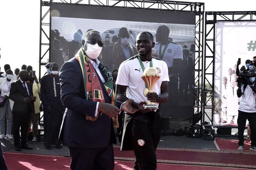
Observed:
[[[156,43],[152,55],[167,63],[170,77],[169,100],[160,106],[161,115],[193,117],[195,13],[53,3],[51,29],[51,62],[61,67],[81,48],[86,32],[96,30],[104,43],[98,59],[110,71],[138,54],[140,32],[151,32]],[[167,45],[161,43],[164,39]]]

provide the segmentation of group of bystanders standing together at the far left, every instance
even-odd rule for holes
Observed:
[[[44,111],[44,146],[52,149],[57,144],[64,112],[60,100],[58,65],[45,65],[47,73],[38,81],[32,66],[14,69],[4,65],[0,76],[0,139],[14,139],[16,151],[33,149],[27,145],[32,126],[32,141],[38,141],[38,121]],[[5,119],[7,119],[5,137]],[[61,145],[56,145],[58,149]]]

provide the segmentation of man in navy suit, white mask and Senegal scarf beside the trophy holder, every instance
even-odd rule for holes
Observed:
[[[130,113],[136,111],[129,105],[133,100],[127,100],[123,104],[117,102],[117,107],[110,104],[114,100],[108,94],[109,90],[113,91],[112,75],[108,70],[105,74],[106,67],[97,59],[102,46],[99,32],[93,30],[87,32],[76,57],[67,61],[60,69],[61,101],[67,109],[63,116],[58,143],[62,142],[63,145],[68,146],[72,170],[113,170],[112,143],[116,143],[116,137],[112,118],[120,113],[119,108]],[[84,63],[80,65],[77,56],[87,61],[86,67],[90,67],[89,70],[82,72],[81,65]],[[100,97],[104,98],[105,103],[94,101],[95,97],[92,98],[94,95],[91,95],[91,91],[100,87],[89,90],[90,88],[87,88],[84,83],[83,74],[85,74],[87,85],[95,78],[100,82],[102,89]],[[112,89],[107,91],[104,83],[109,82],[109,78],[112,80]],[[85,90],[87,96],[85,96]],[[87,117],[95,120],[88,120]]]

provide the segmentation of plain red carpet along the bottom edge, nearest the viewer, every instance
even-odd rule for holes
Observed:
[[[4,153],[6,164],[9,170],[69,170],[70,158],[50,155],[34,155],[23,153]],[[115,161],[115,170],[132,170],[133,162]],[[158,170],[228,170],[228,167],[193,166],[175,164],[157,164]],[[232,168],[232,170],[239,170]]]

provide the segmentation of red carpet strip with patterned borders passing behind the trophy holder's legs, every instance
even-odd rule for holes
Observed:
[[[133,151],[114,147],[116,160],[134,160]],[[256,169],[256,152],[158,148],[158,163]]]

